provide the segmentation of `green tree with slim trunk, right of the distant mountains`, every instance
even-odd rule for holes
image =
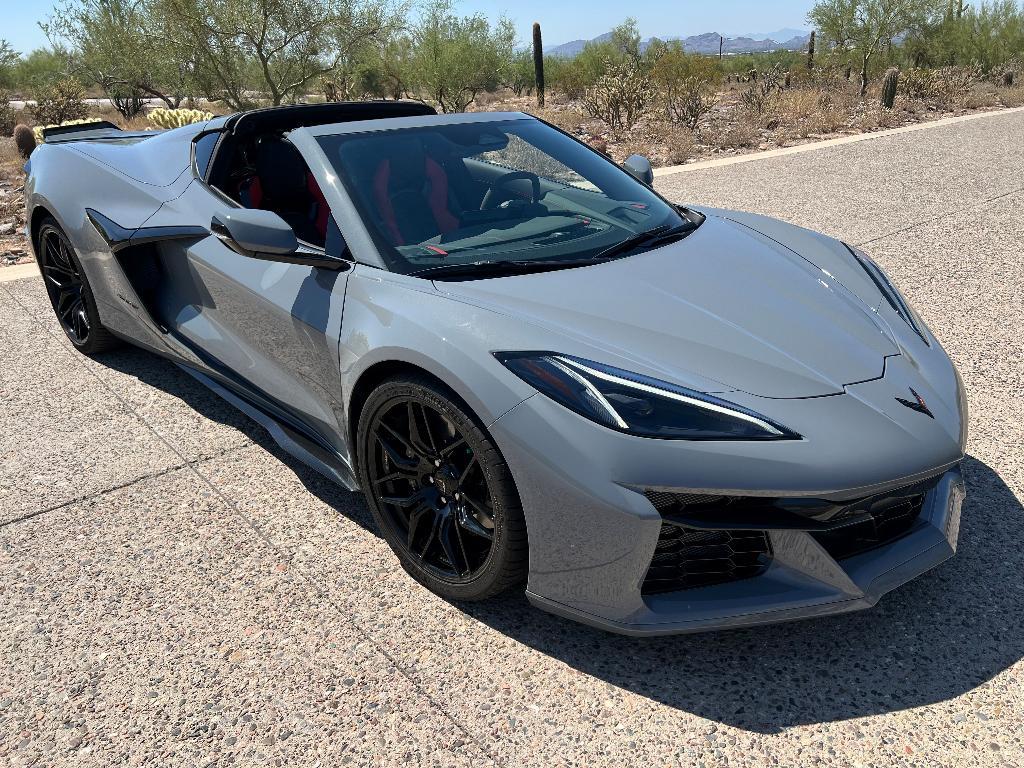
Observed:
[[[818,0],[807,19],[824,42],[849,51],[860,69],[860,94],[867,93],[868,67],[885,46],[922,25],[945,0]]]

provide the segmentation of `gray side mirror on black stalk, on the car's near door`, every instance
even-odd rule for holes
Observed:
[[[322,253],[299,251],[295,230],[273,211],[238,208],[214,214],[210,232],[238,254],[264,261],[346,269],[349,262]]]

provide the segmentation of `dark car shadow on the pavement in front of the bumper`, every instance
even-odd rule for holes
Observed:
[[[965,469],[956,557],[866,611],[638,640],[572,625],[521,596],[463,608],[594,678],[751,731],[954,698],[1024,657],[1024,508],[984,463],[968,458]]]

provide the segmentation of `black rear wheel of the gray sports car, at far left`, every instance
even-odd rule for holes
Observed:
[[[65,335],[82,354],[99,354],[122,342],[103,328],[96,300],[71,240],[48,216],[39,227],[36,260],[50,306]]]

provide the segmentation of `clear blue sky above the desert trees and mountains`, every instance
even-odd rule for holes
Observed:
[[[0,38],[15,50],[28,51],[46,44],[36,24],[51,11],[52,0],[0,0]],[[490,18],[503,13],[516,23],[520,37],[529,37],[529,26],[540,22],[546,45],[607,32],[633,15],[644,37],[695,35],[702,32],[738,34],[774,32],[806,27],[813,0],[462,0],[461,13],[481,12]]]

